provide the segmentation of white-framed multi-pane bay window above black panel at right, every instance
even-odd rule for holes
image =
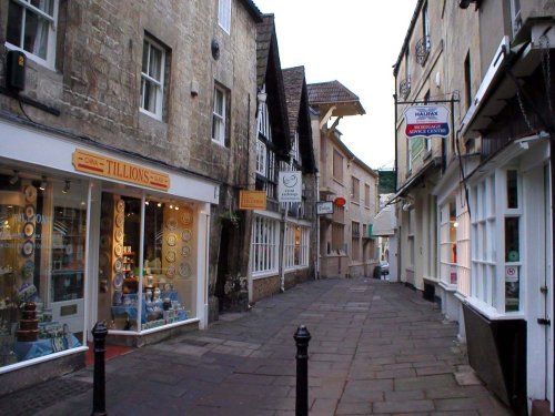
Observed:
[[[523,311],[522,176],[497,169],[471,187],[471,302],[491,315]]]

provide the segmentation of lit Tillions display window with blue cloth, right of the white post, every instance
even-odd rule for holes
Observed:
[[[186,204],[102,194],[99,318],[110,322],[111,331],[194,317],[193,220]]]

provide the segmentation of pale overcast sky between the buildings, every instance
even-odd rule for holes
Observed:
[[[339,124],[343,142],[372,169],[393,168],[396,62],[416,0],[254,0],[275,14],[283,68],[304,65],[306,82],[337,80],[365,115]]]

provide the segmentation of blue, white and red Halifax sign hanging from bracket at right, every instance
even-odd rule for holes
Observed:
[[[405,111],[405,134],[412,138],[447,138],[450,112],[443,105],[413,105]]]

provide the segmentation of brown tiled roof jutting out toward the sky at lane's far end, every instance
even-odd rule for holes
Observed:
[[[359,95],[339,81],[320,82],[307,87],[310,104],[320,106],[324,112],[335,106],[334,116],[366,114]]]

